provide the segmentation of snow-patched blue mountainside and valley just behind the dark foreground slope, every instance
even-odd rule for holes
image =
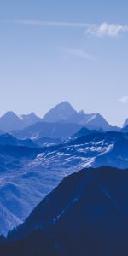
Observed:
[[[63,177],[84,167],[128,168],[128,134],[97,132],[44,148],[0,146],[0,231],[22,223]]]

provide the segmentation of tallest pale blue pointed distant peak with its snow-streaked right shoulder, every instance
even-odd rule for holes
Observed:
[[[49,110],[44,115],[43,120],[49,123],[66,122],[70,124],[79,124],[91,130],[117,131],[118,127],[109,125],[106,119],[99,113],[77,112],[68,102],[61,102],[55,108]]]

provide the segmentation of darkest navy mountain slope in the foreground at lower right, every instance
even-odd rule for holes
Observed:
[[[3,255],[127,256],[128,170],[84,169],[69,177],[9,234]]]

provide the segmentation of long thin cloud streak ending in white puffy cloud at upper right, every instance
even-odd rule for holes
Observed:
[[[101,24],[93,23],[73,23],[60,21],[43,21],[43,20],[0,20],[1,23],[24,25],[24,26],[55,26],[55,27],[74,27],[83,28],[85,33],[96,37],[116,37],[121,32],[128,32],[128,25],[108,24],[103,22]]]

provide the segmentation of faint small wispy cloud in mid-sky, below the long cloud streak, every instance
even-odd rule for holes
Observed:
[[[79,58],[83,60],[94,61],[95,57],[87,53],[84,49],[63,49],[63,54],[66,54],[73,58]]]

